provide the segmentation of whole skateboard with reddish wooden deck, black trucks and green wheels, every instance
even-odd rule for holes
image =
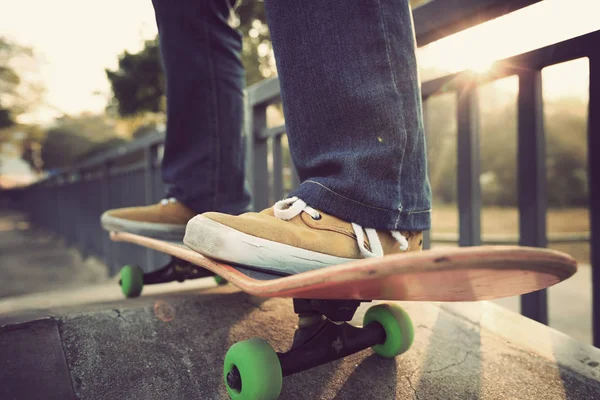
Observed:
[[[414,330],[404,309],[377,304],[367,310],[362,327],[349,324],[363,302],[491,300],[545,289],[577,271],[575,260],[558,251],[477,246],[361,259],[284,276],[209,259],[183,243],[126,232],[110,235],[113,241],[173,257],[151,274],[124,267],[121,286],[130,295],[139,295],[143,284],[218,276],[221,283],[230,282],[251,295],[293,299],[299,322],[289,351],[276,353],[260,338],[235,343],[227,351],[223,378],[232,399],[276,399],[283,377],[367,348],[386,358],[407,351]]]

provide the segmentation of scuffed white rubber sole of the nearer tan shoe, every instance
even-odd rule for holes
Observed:
[[[202,215],[188,222],[183,243],[210,258],[285,275],[354,261],[252,236]]]

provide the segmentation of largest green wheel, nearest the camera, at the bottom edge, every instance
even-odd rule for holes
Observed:
[[[265,340],[256,338],[229,348],[223,378],[234,400],[275,400],[283,384],[277,353]]]

